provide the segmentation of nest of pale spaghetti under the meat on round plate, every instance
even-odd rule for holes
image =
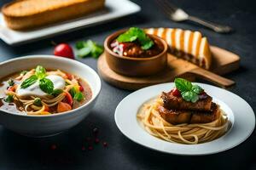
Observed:
[[[179,144],[200,144],[218,139],[228,129],[228,118],[221,110],[218,110],[220,116],[213,122],[173,125],[160,116],[158,108],[162,105],[160,97],[152,99],[137,113],[143,128],[157,138]]]

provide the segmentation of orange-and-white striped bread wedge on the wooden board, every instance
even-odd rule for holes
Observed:
[[[201,32],[175,28],[149,28],[146,32],[166,40],[171,53],[177,57],[189,60],[202,68],[210,68],[212,62],[210,46],[207,37],[202,37]]]

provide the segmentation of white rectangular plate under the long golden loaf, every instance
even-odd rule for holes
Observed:
[[[34,31],[14,31],[9,29],[5,25],[3,14],[0,13],[0,38],[9,45],[31,42],[41,37],[49,37],[57,33],[93,26],[128,14],[134,14],[140,9],[136,3],[128,0],[106,0],[106,8],[96,14],[90,14],[76,20],[69,20]]]

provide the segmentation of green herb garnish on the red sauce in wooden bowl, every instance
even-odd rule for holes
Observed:
[[[147,50],[154,45],[154,42],[147,36],[147,34],[137,27],[131,27],[117,38],[118,42],[134,42],[136,40],[141,43],[144,50]]]

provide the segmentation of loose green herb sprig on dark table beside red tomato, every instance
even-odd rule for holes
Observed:
[[[103,47],[96,42],[91,40],[80,41],[76,43],[76,48],[78,49],[78,56],[80,58],[93,57],[97,59],[104,51]]]

